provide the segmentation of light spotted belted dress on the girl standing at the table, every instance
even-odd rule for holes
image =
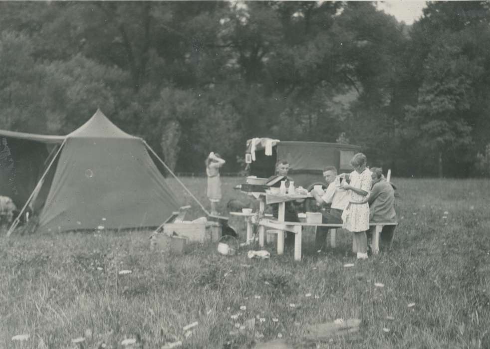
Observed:
[[[350,192],[350,202],[342,213],[342,228],[353,232],[369,229],[369,204],[367,198],[371,191],[371,171],[365,169],[361,174],[353,171],[350,176],[350,185],[367,192],[366,196],[359,195],[353,190]]]

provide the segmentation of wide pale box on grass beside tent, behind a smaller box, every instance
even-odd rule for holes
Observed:
[[[197,242],[216,242],[221,237],[221,225],[218,222],[180,222],[180,223],[165,223],[163,225],[164,234],[177,234],[184,236],[189,241]]]

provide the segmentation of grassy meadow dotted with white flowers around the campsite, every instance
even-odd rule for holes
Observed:
[[[205,202],[205,178],[183,181]],[[239,182],[223,177],[222,204],[244,197],[232,189]],[[124,339],[136,339],[133,348],[176,339],[182,348],[250,348],[278,337],[309,348],[305,326],[338,318],[361,319],[362,337],[311,348],[490,348],[490,182],[394,182],[393,249],[362,262],[342,233],[321,253],[305,234],[302,262],[272,246],[269,260],[221,256],[215,244],[163,255],[149,250],[148,232],[2,234],[0,348],[121,348]],[[186,338],[183,327],[196,321]]]

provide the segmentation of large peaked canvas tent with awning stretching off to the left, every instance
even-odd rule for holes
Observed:
[[[0,137],[7,133],[0,131]],[[148,145],[120,130],[100,110],[67,136],[8,137],[57,144],[43,160],[49,169],[24,201],[42,206],[38,231],[159,226],[180,206]]]

